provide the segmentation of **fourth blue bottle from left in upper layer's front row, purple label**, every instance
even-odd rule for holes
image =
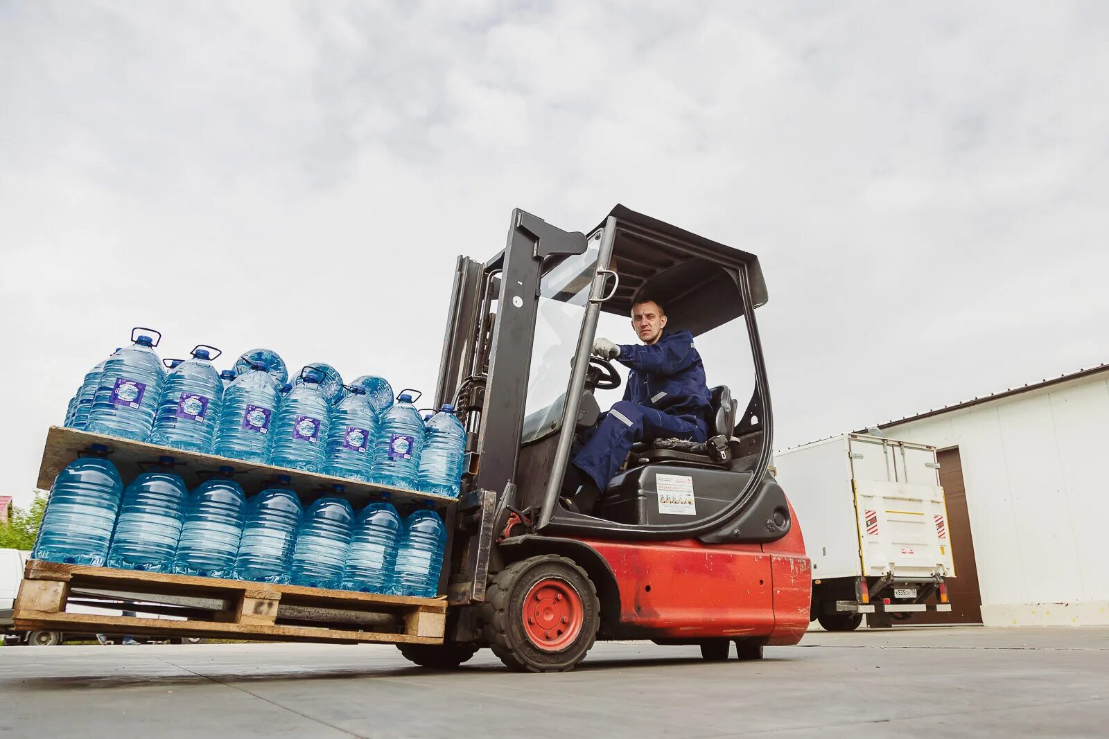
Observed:
[[[330,410],[319,388],[318,370],[305,367],[277,409],[269,434],[269,464],[319,472],[327,452]]]

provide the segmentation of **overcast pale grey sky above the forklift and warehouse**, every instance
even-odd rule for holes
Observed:
[[[513,207],[588,229],[619,202],[759,254],[776,448],[1109,360],[1107,27],[1100,2],[0,0],[0,493],[26,502],[136,325],[163,357],[267,346],[431,393],[454,258]]]

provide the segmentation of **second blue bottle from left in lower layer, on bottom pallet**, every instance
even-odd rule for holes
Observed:
[[[185,521],[189,487],[173,473],[173,458],[159,458],[123,491],[109,567],[170,572]]]

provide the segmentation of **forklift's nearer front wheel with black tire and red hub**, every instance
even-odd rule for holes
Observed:
[[[501,569],[481,610],[484,635],[494,654],[521,673],[573,669],[593,646],[601,623],[589,575],[557,554]]]

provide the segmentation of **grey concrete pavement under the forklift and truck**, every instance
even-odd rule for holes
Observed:
[[[0,736],[1109,736],[1109,628],[811,633],[759,663],[598,644],[519,675],[390,646],[0,649]]]

